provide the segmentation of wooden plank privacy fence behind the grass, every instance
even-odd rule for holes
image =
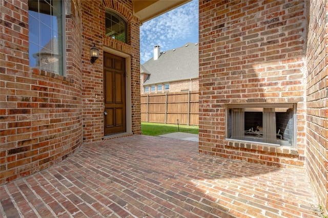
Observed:
[[[141,95],[141,122],[198,125],[198,91]]]

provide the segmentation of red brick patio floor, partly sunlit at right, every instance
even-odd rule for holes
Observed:
[[[131,136],[85,144],[0,186],[2,217],[318,217],[304,171],[198,154],[198,142]]]

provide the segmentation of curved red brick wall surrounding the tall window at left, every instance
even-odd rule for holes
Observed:
[[[66,16],[66,76],[29,67],[27,1],[1,2],[0,184],[65,159],[82,143],[79,4]]]

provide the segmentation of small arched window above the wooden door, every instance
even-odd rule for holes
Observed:
[[[127,43],[127,23],[116,13],[106,10],[106,35]]]

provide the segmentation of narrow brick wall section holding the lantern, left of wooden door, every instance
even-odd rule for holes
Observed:
[[[100,1],[81,1],[82,11],[82,95],[83,140],[95,141],[104,137],[103,109],[103,6]],[[104,22],[104,21],[103,21]],[[90,48],[99,49],[99,59],[90,63]]]

